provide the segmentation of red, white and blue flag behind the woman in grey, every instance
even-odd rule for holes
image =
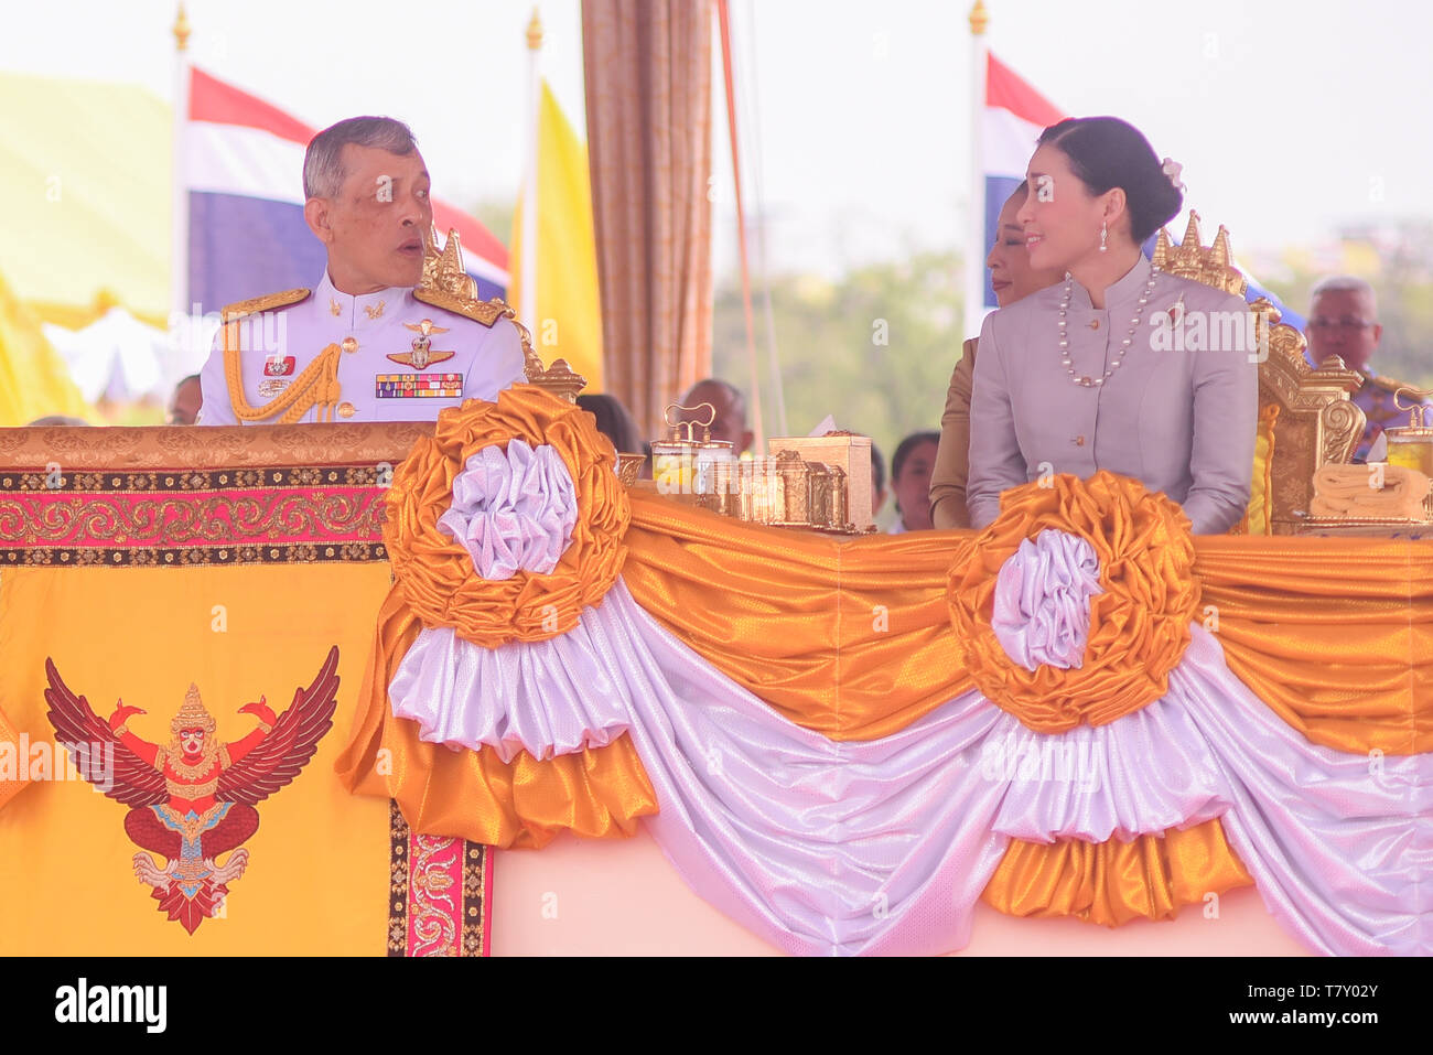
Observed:
[[[1000,208],[1010,192],[1025,179],[1025,169],[1030,162],[1030,155],[1035,153],[1035,142],[1040,138],[1040,132],[1068,116],[995,54],[986,53],[986,97],[980,148],[984,161],[984,244],[987,247],[995,245]],[[1178,219],[1169,229],[1169,235],[1175,245],[1184,237],[1184,225]],[[1152,255],[1155,239],[1151,238],[1144,248],[1146,257]],[[1248,278],[1245,300],[1250,304],[1260,297],[1267,297],[1278,308],[1284,323],[1303,331],[1303,315],[1290,311],[1278,297],[1260,287],[1250,275],[1248,268],[1237,259],[1234,265]],[[984,307],[997,307],[989,271],[984,277]]]

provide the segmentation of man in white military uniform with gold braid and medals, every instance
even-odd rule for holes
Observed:
[[[408,126],[351,118],[304,156],[318,287],[231,304],[201,374],[199,424],[433,420],[524,380],[504,305],[418,287],[430,179]]]

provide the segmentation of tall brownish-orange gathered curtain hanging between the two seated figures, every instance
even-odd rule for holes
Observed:
[[[585,0],[606,390],[656,436],[711,373],[711,0]]]

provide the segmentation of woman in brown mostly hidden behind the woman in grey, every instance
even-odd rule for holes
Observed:
[[[1058,268],[1030,267],[1030,254],[1025,248],[1025,228],[1015,219],[1025,205],[1027,192],[1029,186],[1022,182],[1006,198],[996,221],[995,245],[986,257],[990,287],[1002,308],[1065,278],[1065,272]],[[936,469],[930,474],[930,519],[941,529],[970,526],[966,477],[970,473],[970,387],[974,378],[977,344],[977,337],[966,341],[960,361],[950,374],[946,413],[940,416],[940,450],[936,454]]]

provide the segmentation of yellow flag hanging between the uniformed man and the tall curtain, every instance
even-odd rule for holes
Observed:
[[[513,221],[509,302],[522,304],[523,202]],[[588,378],[586,391],[602,391],[602,307],[598,298],[598,248],[592,226],[588,148],[563,116],[547,82],[537,118],[537,300],[522,320],[545,363],[565,358]]]

